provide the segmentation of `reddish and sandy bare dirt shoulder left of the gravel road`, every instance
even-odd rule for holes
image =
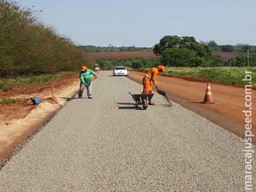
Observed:
[[[68,75],[46,83],[19,84],[1,90],[0,99],[22,98],[23,101],[0,106],[0,167],[78,89],[79,76]],[[31,97],[38,97],[41,103],[33,105]]]

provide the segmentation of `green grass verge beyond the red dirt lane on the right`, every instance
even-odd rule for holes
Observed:
[[[245,78],[245,70],[252,76],[250,81],[242,81]],[[256,67],[215,67],[215,68],[188,68],[167,67],[167,75],[175,77],[189,77],[201,79],[202,81],[221,83],[226,85],[252,85],[256,87]]]

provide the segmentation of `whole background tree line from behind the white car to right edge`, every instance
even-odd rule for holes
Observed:
[[[247,58],[241,54],[228,61],[223,61],[221,55],[213,55],[209,45],[197,42],[193,36],[164,36],[160,42],[155,44],[152,51],[161,56],[157,59],[130,58],[121,59],[99,59],[98,64],[102,69],[113,69],[122,65],[132,69],[142,69],[165,65],[169,67],[245,67],[250,61],[250,67],[256,66],[256,53],[251,53]]]

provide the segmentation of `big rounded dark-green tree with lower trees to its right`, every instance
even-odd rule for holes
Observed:
[[[165,66],[171,67],[244,67],[256,66],[256,53],[241,54],[232,61],[223,62],[221,55],[213,55],[209,45],[197,42],[193,36],[164,36],[154,45],[153,51],[161,56],[160,61]]]

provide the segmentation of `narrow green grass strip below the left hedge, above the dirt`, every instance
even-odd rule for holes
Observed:
[[[57,79],[66,75],[71,75],[74,72],[61,72],[57,73],[55,75],[33,75],[29,77],[18,77],[16,79],[0,79],[0,90],[19,84],[19,83],[25,83],[25,84],[32,84],[32,83],[43,83],[50,81],[52,79]]]

